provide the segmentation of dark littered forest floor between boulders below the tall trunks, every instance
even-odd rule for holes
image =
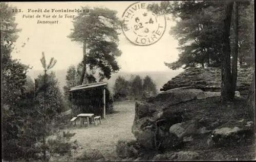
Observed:
[[[221,125],[218,128],[239,126],[240,120],[246,120],[245,98],[236,98],[233,102],[225,105],[220,103],[220,97],[211,97],[202,100],[192,100],[178,104],[177,110],[186,109],[190,119],[209,118],[219,119]],[[254,129],[255,132],[255,129]],[[195,137],[193,141],[185,143],[184,147],[175,150],[196,151],[201,155],[200,160],[252,160],[255,159],[255,136],[246,139],[244,143],[237,146],[213,147],[209,148],[207,140],[208,134]],[[158,153],[156,153],[158,154]],[[156,155],[155,154],[155,155]],[[150,160],[154,155],[149,155],[144,160]]]

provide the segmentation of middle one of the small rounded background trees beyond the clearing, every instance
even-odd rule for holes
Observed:
[[[135,99],[142,97],[142,79],[139,75],[136,75],[131,83],[131,92]]]

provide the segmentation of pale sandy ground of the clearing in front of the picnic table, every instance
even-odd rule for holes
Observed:
[[[116,144],[120,139],[133,140],[132,125],[135,113],[134,101],[120,101],[114,103],[113,114],[106,115],[106,119],[101,120],[101,124],[90,127],[76,127],[65,129],[76,133],[72,140],[77,140],[79,149],[73,156],[61,157],[58,161],[77,161],[76,158],[86,150],[97,149],[105,159],[118,159],[116,154]]]

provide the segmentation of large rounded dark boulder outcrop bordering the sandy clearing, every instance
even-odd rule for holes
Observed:
[[[165,91],[147,101],[137,101],[132,133],[146,149],[164,150],[181,146],[182,138],[179,137],[181,135],[170,131],[169,128],[183,121],[185,111],[176,110],[174,105],[214,96],[211,93],[214,92],[206,93],[199,89],[183,87]],[[193,126],[193,123],[189,126]],[[185,128],[186,132],[193,129],[189,126]],[[202,126],[199,131],[206,129]]]

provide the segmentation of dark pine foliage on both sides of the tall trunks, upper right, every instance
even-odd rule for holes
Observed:
[[[176,26],[170,30],[178,41],[180,47],[179,59],[165,65],[171,69],[196,67],[220,67],[223,18],[226,2],[212,1],[181,1],[161,2],[153,4],[150,10],[158,14],[172,14]],[[245,58],[252,57],[253,53],[253,3],[239,2],[239,62],[241,66]],[[230,26],[230,39],[232,42],[232,30]],[[246,40],[246,41],[244,41]],[[243,42],[243,43],[242,43]],[[231,48],[233,44],[231,44]],[[247,59],[250,60],[250,59]],[[247,62],[246,64],[249,64]],[[184,65],[184,66],[183,66]]]

